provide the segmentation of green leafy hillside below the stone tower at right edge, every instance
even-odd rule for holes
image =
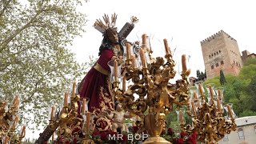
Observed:
[[[220,78],[207,79],[207,83],[215,83],[220,86]],[[256,58],[250,58],[242,67],[238,76],[226,75],[224,83],[225,103],[233,103],[234,112],[238,117],[256,114]]]

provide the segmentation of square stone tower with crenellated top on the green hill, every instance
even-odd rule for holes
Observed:
[[[202,56],[207,78],[224,74],[238,75],[242,67],[242,58],[238,42],[223,30],[201,42]]]

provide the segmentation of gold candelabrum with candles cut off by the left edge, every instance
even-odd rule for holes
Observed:
[[[18,124],[18,95],[15,95],[12,105],[8,108],[6,102],[0,102],[0,142],[19,144],[26,134],[26,126],[22,127],[20,134],[17,134]]]

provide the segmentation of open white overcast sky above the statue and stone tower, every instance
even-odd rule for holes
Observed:
[[[90,0],[80,9],[87,14],[86,33],[75,39],[71,49],[79,62],[87,62],[89,55],[98,58],[102,34],[94,29],[95,20],[115,12],[121,30],[136,16],[139,21],[127,39],[134,42],[144,33],[151,35],[154,55],[164,56],[162,39],[167,38],[171,50],[176,48],[174,58],[191,56],[190,76],[195,77],[196,70],[205,70],[200,42],[219,30],[237,40],[240,52],[256,52],[254,6],[254,1],[236,0]]]

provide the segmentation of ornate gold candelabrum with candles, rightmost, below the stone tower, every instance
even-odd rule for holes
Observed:
[[[223,87],[214,89],[214,86],[214,83],[206,85],[208,102],[205,99],[202,82],[198,82],[196,86],[190,86],[190,110],[186,112],[192,117],[192,126],[184,127],[185,122],[182,121],[180,125],[182,131],[196,132],[198,142],[218,143],[225,134],[236,130],[234,122],[236,116],[232,104],[224,105]],[[225,117],[224,110],[227,114]]]

